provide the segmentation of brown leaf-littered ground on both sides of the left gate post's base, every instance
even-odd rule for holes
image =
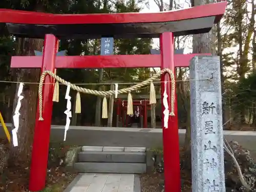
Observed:
[[[2,140],[3,141],[3,140]],[[1,143],[1,140],[0,140]],[[49,153],[53,161],[65,157],[68,147],[62,145],[54,146],[54,153]],[[56,153],[58,152],[58,153]],[[41,192],[62,192],[76,177],[77,173],[66,170],[64,166],[59,166],[59,162],[49,159],[46,188]],[[51,167],[50,167],[51,165]],[[27,192],[29,185],[29,163],[12,162],[5,172],[0,175],[0,192]]]

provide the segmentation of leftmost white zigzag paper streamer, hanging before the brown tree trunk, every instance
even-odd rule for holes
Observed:
[[[18,93],[17,93],[18,101],[17,101],[16,109],[13,115],[14,129],[12,130],[12,141],[14,146],[18,146],[17,133],[18,133],[18,127],[19,127],[19,115],[20,115],[19,109],[20,109],[20,106],[22,106],[21,100],[24,98],[24,96],[21,95],[23,91],[23,86],[24,84],[22,82],[19,83]]]

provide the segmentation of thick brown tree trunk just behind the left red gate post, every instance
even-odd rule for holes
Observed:
[[[34,55],[34,50],[41,51],[44,45],[43,39],[18,39],[17,55]],[[37,109],[38,84],[28,84],[26,82],[39,82],[40,69],[17,69],[16,76],[18,82],[25,82],[22,95],[22,106],[20,108],[18,147],[12,147],[10,160],[30,161],[32,143],[34,138],[35,116]],[[13,101],[13,115],[17,105],[17,90]],[[14,127],[13,127],[14,129]]]

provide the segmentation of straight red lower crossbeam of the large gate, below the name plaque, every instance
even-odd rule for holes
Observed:
[[[190,59],[196,55],[200,54],[174,55],[175,67],[189,67]],[[13,56],[11,68],[41,68],[42,58],[43,56]],[[57,56],[54,67],[56,69],[155,68],[161,67],[161,55]]]

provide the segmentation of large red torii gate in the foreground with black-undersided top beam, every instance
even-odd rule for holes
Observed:
[[[174,36],[208,32],[223,16],[226,4],[221,2],[159,13],[115,14],[49,14],[0,9],[0,23],[6,23],[9,32],[17,37],[45,38],[43,56],[14,56],[12,68],[41,68],[41,72],[54,72],[58,68],[161,67],[175,72],[175,67],[187,67],[195,54],[174,55]],[[111,36],[160,37],[161,54],[56,57],[58,39]],[[162,75],[161,80],[169,81],[168,75]],[[47,174],[54,79],[47,76],[45,82],[42,95],[44,121],[38,120],[37,110],[35,124],[29,183],[32,191],[45,187]],[[161,86],[164,88],[164,83]],[[167,82],[166,92],[170,98],[170,82]],[[168,129],[163,129],[166,192],[180,192],[177,99],[175,114],[169,116]]]

